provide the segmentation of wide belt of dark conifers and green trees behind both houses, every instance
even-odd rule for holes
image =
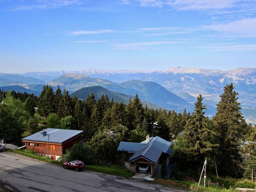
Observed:
[[[93,92],[86,100],[71,98],[68,90],[58,87],[53,92],[49,85],[38,98],[26,92],[5,92],[0,105],[0,138],[13,135],[19,144],[26,134],[46,127],[84,130],[87,151],[93,149],[98,161],[116,164],[120,141],[141,142],[149,134],[174,141],[171,161],[177,171],[198,173],[206,158],[211,172],[217,167],[219,175],[242,176],[256,169],[256,130],[246,124],[237,95],[233,84],[224,86],[217,112],[209,119],[204,116],[207,106],[201,94],[190,114],[186,109],[183,113],[149,109],[137,94],[124,104],[107,95],[95,100]],[[250,161],[245,160],[246,153]]]

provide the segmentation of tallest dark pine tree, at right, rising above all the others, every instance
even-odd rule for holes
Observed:
[[[224,86],[224,92],[217,104],[217,113],[213,117],[220,145],[218,160],[223,175],[237,176],[243,172],[240,147],[244,142],[247,125],[240,111],[237,95],[232,83]]]

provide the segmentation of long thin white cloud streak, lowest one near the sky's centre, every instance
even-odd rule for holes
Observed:
[[[182,44],[191,43],[188,41],[154,41],[154,42],[138,42],[138,43],[119,43],[112,44],[114,49],[120,50],[133,50],[133,51],[145,51],[149,49],[154,49],[156,45],[166,45],[166,44]]]

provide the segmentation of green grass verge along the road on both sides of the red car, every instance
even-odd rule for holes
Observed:
[[[24,150],[8,150],[12,153],[16,153],[22,156],[27,156],[33,159],[38,159],[40,161],[44,161],[47,163],[52,163],[52,164],[59,164],[62,165],[64,162],[63,161],[56,161],[56,160],[52,160],[50,158],[46,158],[46,156],[39,156],[36,153],[28,150],[28,149],[24,149]],[[110,166],[103,166],[103,165],[85,165],[85,169],[86,170],[90,170],[90,171],[95,171],[95,172],[102,172],[102,173],[106,173],[106,174],[110,174],[110,175],[116,175],[116,176],[120,176],[120,177],[132,177],[134,175],[133,172],[131,172],[128,169],[122,168],[120,166],[114,166],[114,165],[110,165]]]

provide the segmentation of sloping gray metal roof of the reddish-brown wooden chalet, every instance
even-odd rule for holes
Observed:
[[[39,142],[47,142],[48,135],[49,135],[49,143],[63,143],[76,135],[83,133],[84,131],[81,130],[71,130],[71,129],[54,129],[54,128],[47,128],[45,129],[47,132],[46,136],[41,136],[41,132],[37,132],[33,135],[29,135],[28,137],[23,138],[22,140],[29,140],[29,141],[39,141]]]

